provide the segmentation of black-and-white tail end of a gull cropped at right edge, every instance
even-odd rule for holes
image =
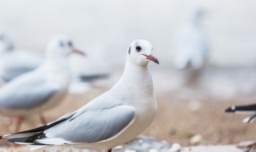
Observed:
[[[248,118],[243,119],[242,122],[250,123],[254,122],[256,118],[256,104],[250,104],[245,106],[231,106],[225,110],[228,113],[235,113],[235,114],[254,114]]]

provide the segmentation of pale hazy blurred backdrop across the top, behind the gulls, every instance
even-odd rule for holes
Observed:
[[[98,62],[113,68],[123,65],[130,42],[144,38],[153,43],[160,68],[169,68],[175,31],[193,6],[206,12],[210,64],[256,65],[253,0],[1,0],[0,25],[13,32],[18,47],[41,53],[53,35],[68,34],[83,50],[111,58]]]

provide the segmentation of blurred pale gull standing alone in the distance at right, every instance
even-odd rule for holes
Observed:
[[[196,82],[209,56],[209,43],[202,26],[203,11],[194,7],[174,38],[174,68],[184,70],[186,84]]]

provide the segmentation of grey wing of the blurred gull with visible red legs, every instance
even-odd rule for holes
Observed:
[[[58,87],[47,83],[44,77],[10,82],[0,90],[0,109],[34,108],[46,102],[57,91]]]

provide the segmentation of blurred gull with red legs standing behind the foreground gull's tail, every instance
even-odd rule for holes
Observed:
[[[22,74],[0,89],[0,113],[17,118],[16,130],[22,118],[39,114],[57,106],[65,97],[70,82],[68,56],[76,52],[70,38],[59,35],[50,40],[46,48],[46,62],[37,69]],[[10,61],[16,62],[16,61]]]

